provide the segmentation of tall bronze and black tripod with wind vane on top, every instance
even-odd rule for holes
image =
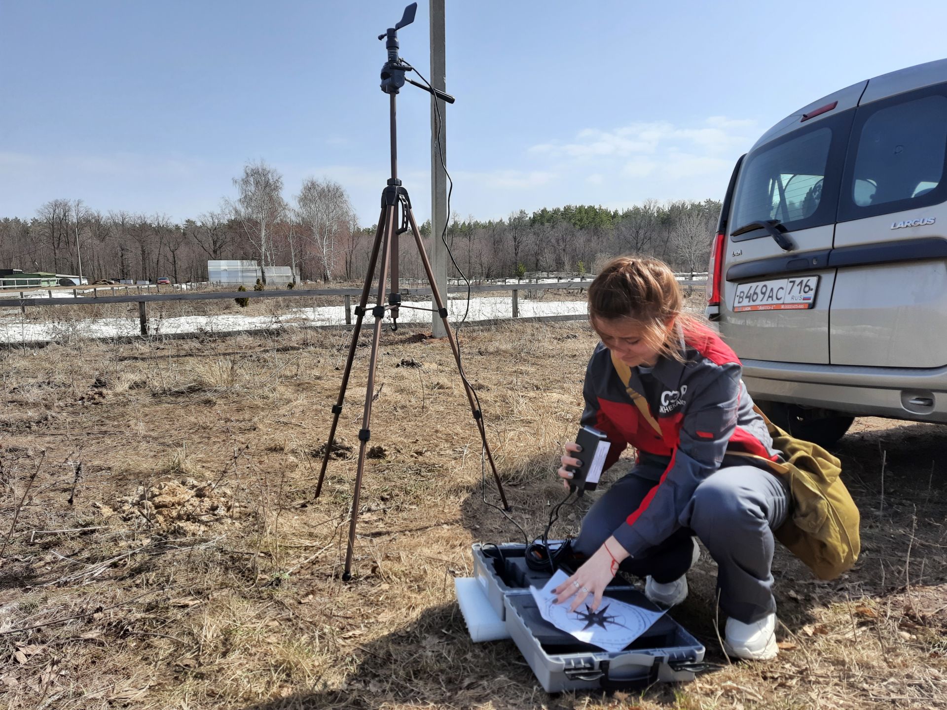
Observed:
[[[342,574],[342,578],[346,581],[351,578],[352,552],[355,545],[355,528],[358,524],[359,499],[362,491],[362,476],[365,472],[366,447],[371,437],[371,432],[369,430],[369,425],[371,422],[371,405],[374,399],[375,367],[378,364],[378,343],[382,334],[384,313],[385,311],[390,312],[391,318],[395,322],[394,328],[397,328],[399,310],[402,308],[415,309],[413,306],[405,306],[402,304],[402,297],[399,293],[398,284],[398,238],[401,234],[407,232],[409,229],[412,236],[414,237],[415,244],[418,246],[420,260],[424,266],[424,273],[427,275],[427,280],[431,284],[431,292],[434,297],[434,302],[438,306],[437,309],[419,308],[416,310],[437,312],[443,321],[444,329],[447,331],[447,339],[450,342],[451,350],[454,352],[457,370],[460,374],[460,379],[464,384],[464,390],[467,393],[467,400],[470,403],[471,412],[474,415],[474,421],[476,421],[477,429],[480,432],[480,439],[483,443],[483,449],[486,453],[487,459],[490,462],[490,468],[493,471],[493,479],[496,482],[496,487],[500,492],[500,499],[503,502],[504,508],[508,511],[510,509],[509,504],[507,503],[507,496],[503,490],[503,484],[500,482],[500,476],[496,471],[495,464],[493,463],[490,445],[487,443],[487,432],[484,428],[482,414],[477,406],[474,391],[472,390],[470,383],[467,382],[467,378],[464,376],[463,366],[460,364],[460,350],[457,347],[456,338],[454,337],[454,333],[451,331],[450,324],[447,321],[447,309],[444,307],[444,302],[440,296],[440,292],[438,291],[438,284],[435,280],[434,272],[431,269],[431,262],[428,260],[427,253],[424,250],[424,242],[420,237],[418,222],[415,221],[414,213],[411,209],[411,200],[408,197],[407,190],[402,186],[402,181],[398,179],[398,132],[395,98],[399,92],[399,89],[404,85],[404,82],[407,81],[415,86],[419,86],[437,98],[441,98],[445,101],[448,101],[449,103],[454,103],[453,97],[450,97],[449,95],[444,94],[433,87],[424,86],[412,80],[406,80],[404,77],[404,72],[411,71],[412,67],[409,64],[403,62],[398,56],[399,44],[397,31],[401,27],[409,25],[414,21],[414,13],[415,9],[417,9],[417,6],[417,3],[409,5],[404,10],[404,15],[401,22],[399,22],[395,27],[389,28],[385,34],[379,37],[380,40],[387,38],[387,44],[385,44],[385,47],[388,50],[388,62],[385,62],[382,69],[382,91],[384,91],[385,94],[388,94],[389,97],[389,122],[391,127],[391,177],[387,181],[387,186],[385,186],[384,190],[382,191],[382,213],[378,220],[378,228],[375,231],[375,240],[372,243],[371,256],[368,259],[368,271],[365,278],[365,286],[362,288],[362,298],[359,301],[359,305],[354,309],[356,315],[355,328],[352,331],[351,344],[348,346],[348,359],[346,361],[345,372],[342,375],[342,387],[339,390],[339,399],[332,406],[332,424],[329,431],[329,442],[326,444],[325,455],[322,459],[322,468],[319,470],[319,482],[315,488],[314,496],[315,498],[318,498],[319,493],[322,491],[322,482],[326,475],[326,468],[329,465],[329,457],[331,454],[332,445],[335,441],[335,431],[338,427],[339,417],[342,415],[343,404],[345,403],[348,377],[351,374],[352,362],[355,358],[355,350],[358,346],[359,334],[362,330],[362,321],[365,316],[370,313],[375,317],[375,325],[372,331],[371,349],[368,359],[368,382],[366,384],[365,409],[362,416],[362,429],[358,434],[360,442],[358,453],[358,469],[355,474],[355,489],[352,493],[351,519],[348,524],[348,549],[346,551],[345,570]],[[398,219],[399,208],[401,208],[401,222],[399,222]],[[399,224],[401,224],[400,228]],[[375,274],[375,267],[378,264],[379,256],[381,256],[381,267],[379,269],[378,275],[377,299],[375,306],[371,309],[368,309],[368,296],[371,292],[372,278]],[[391,292],[388,294],[388,302],[385,304],[384,291],[389,272],[391,275]]]

